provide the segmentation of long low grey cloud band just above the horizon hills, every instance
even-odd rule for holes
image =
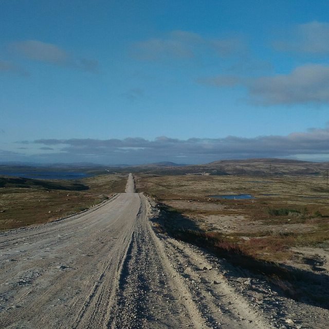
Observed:
[[[53,147],[63,155],[77,157],[100,157],[117,162],[141,163],[174,160],[184,157],[190,162],[207,162],[216,159],[288,157],[304,155],[329,155],[329,126],[310,129],[307,132],[287,136],[259,136],[243,138],[190,138],[180,140],[161,136],[155,140],[143,138],[126,139],[40,139],[34,143]]]

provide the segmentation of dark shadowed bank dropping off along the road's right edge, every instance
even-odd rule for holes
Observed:
[[[254,250],[259,251],[269,246],[271,246],[271,252],[282,251],[282,242],[278,239],[273,239],[271,243],[264,240],[239,243],[222,233],[198,229],[190,218],[185,217],[176,209],[161,203],[158,206],[159,215],[151,219],[158,232],[206,249],[218,258],[225,258],[232,265],[247,269],[255,275],[262,275],[277,291],[289,298],[329,308],[329,302],[325,297],[326,292],[323,293],[321,289],[318,289],[321,285],[329,283],[327,276],[255,257]],[[261,244],[260,241],[262,241]]]

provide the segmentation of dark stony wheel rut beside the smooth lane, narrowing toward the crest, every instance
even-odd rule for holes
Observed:
[[[148,202],[140,194],[137,217],[109,328],[206,328],[189,291],[177,281],[148,223]]]

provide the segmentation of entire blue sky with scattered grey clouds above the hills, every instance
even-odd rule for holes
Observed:
[[[329,160],[328,12],[0,0],[0,162]]]

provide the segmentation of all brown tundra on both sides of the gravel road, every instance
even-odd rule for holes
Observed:
[[[280,173],[266,173],[267,167],[261,174],[259,168],[254,174],[226,167],[221,175],[207,175],[204,168],[182,175],[177,168],[152,167],[67,181],[0,177],[0,229],[46,223],[93,207],[124,192],[127,173],[134,169],[137,192],[147,194],[157,210],[151,218],[156,230],[266,275],[297,300],[307,296],[329,307],[327,289],[309,285],[322,287],[329,271],[326,171],[308,173],[307,167],[302,174],[288,174],[282,167]],[[254,199],[211,197],[227,194]],[[301,291],[301,286],[308,288]]]

